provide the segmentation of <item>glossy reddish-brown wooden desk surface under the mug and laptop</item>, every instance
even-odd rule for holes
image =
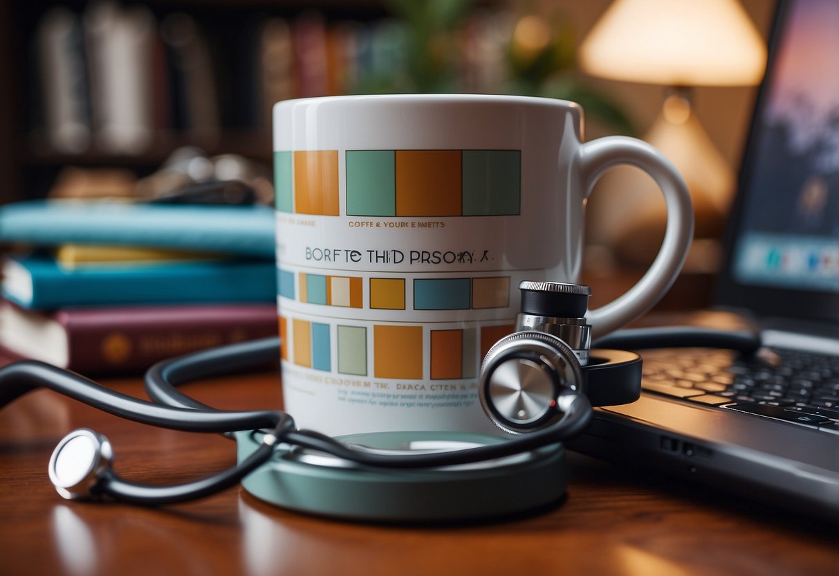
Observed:
[[[112,380],[143,396],[140,380]],[[228,408],[279,406],[279,376],[188,389]],[[129,479],[174,483],[227,468],[232,442],[125,422],[39,390],[0,410],[0,573],[839,574],[835,527],[571,454],[571,485],[536,516],[472,526],[376,526],[300,516],[241,488],[159,509],[61,500],[46,474],[66,432],[112,441]]]

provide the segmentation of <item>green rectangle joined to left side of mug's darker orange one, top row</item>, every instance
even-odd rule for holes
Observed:
[[[348,216],[396,216],[395,154],[347,150]]]

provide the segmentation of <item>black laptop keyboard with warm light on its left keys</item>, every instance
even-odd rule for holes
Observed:
[[[839,357],[772,349],[644,351],[645,391],[839,434]]]

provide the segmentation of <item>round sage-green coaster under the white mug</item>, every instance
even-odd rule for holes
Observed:
[[[236,432],[238,459],[262,432]],[[471,448],[506,442],[466,432],[375,432],[338,437],[373,450]],[[485,462],[435,469],[378,469],[280,445],[242,485],[282,508],[360,521],[467,521],[509,516],[553,504],[565,494],[565,449],[554,444]]]

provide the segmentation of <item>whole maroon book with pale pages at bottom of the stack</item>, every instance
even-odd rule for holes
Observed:
[[[34,312],[0,301],[0,359],[81,374],[142,372],[163,359],[278,333],[275,304],[122,306]]]

